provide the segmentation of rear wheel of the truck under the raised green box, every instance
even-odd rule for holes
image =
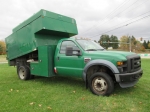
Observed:
[[[18,68],[18,76],[21,80],[28,80],[30,79],[30,70],[26,66],[20,66]]]

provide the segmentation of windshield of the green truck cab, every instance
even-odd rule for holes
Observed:
[[[104,50],[103,47],[101,47],[98,43],[91,41],[91,40],[76,40],[79,45],[86,51],[98,51],[98,50]]]

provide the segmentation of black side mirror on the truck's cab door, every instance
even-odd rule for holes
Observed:
[[[75,52],[74,52],[75,51]],[[66,56],[81,56],[80,50],[73,50],[72,47],[66,47]]]

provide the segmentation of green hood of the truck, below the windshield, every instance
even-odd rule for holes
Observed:
[[[87,51],[87,56],[93,59],[106,59],[106,60],[126,60],[126,56],[133,55],[133,52],[124,51]]]

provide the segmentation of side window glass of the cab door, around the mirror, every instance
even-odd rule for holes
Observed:
[[[72,47],[73,50],[79,50],[79,48],[76,46],[76,44],[72,41],[63,41],[60,47],[60,54],[65,54],[66,47]],[[76,53],[77,51],[73,51],[73,53]]]

